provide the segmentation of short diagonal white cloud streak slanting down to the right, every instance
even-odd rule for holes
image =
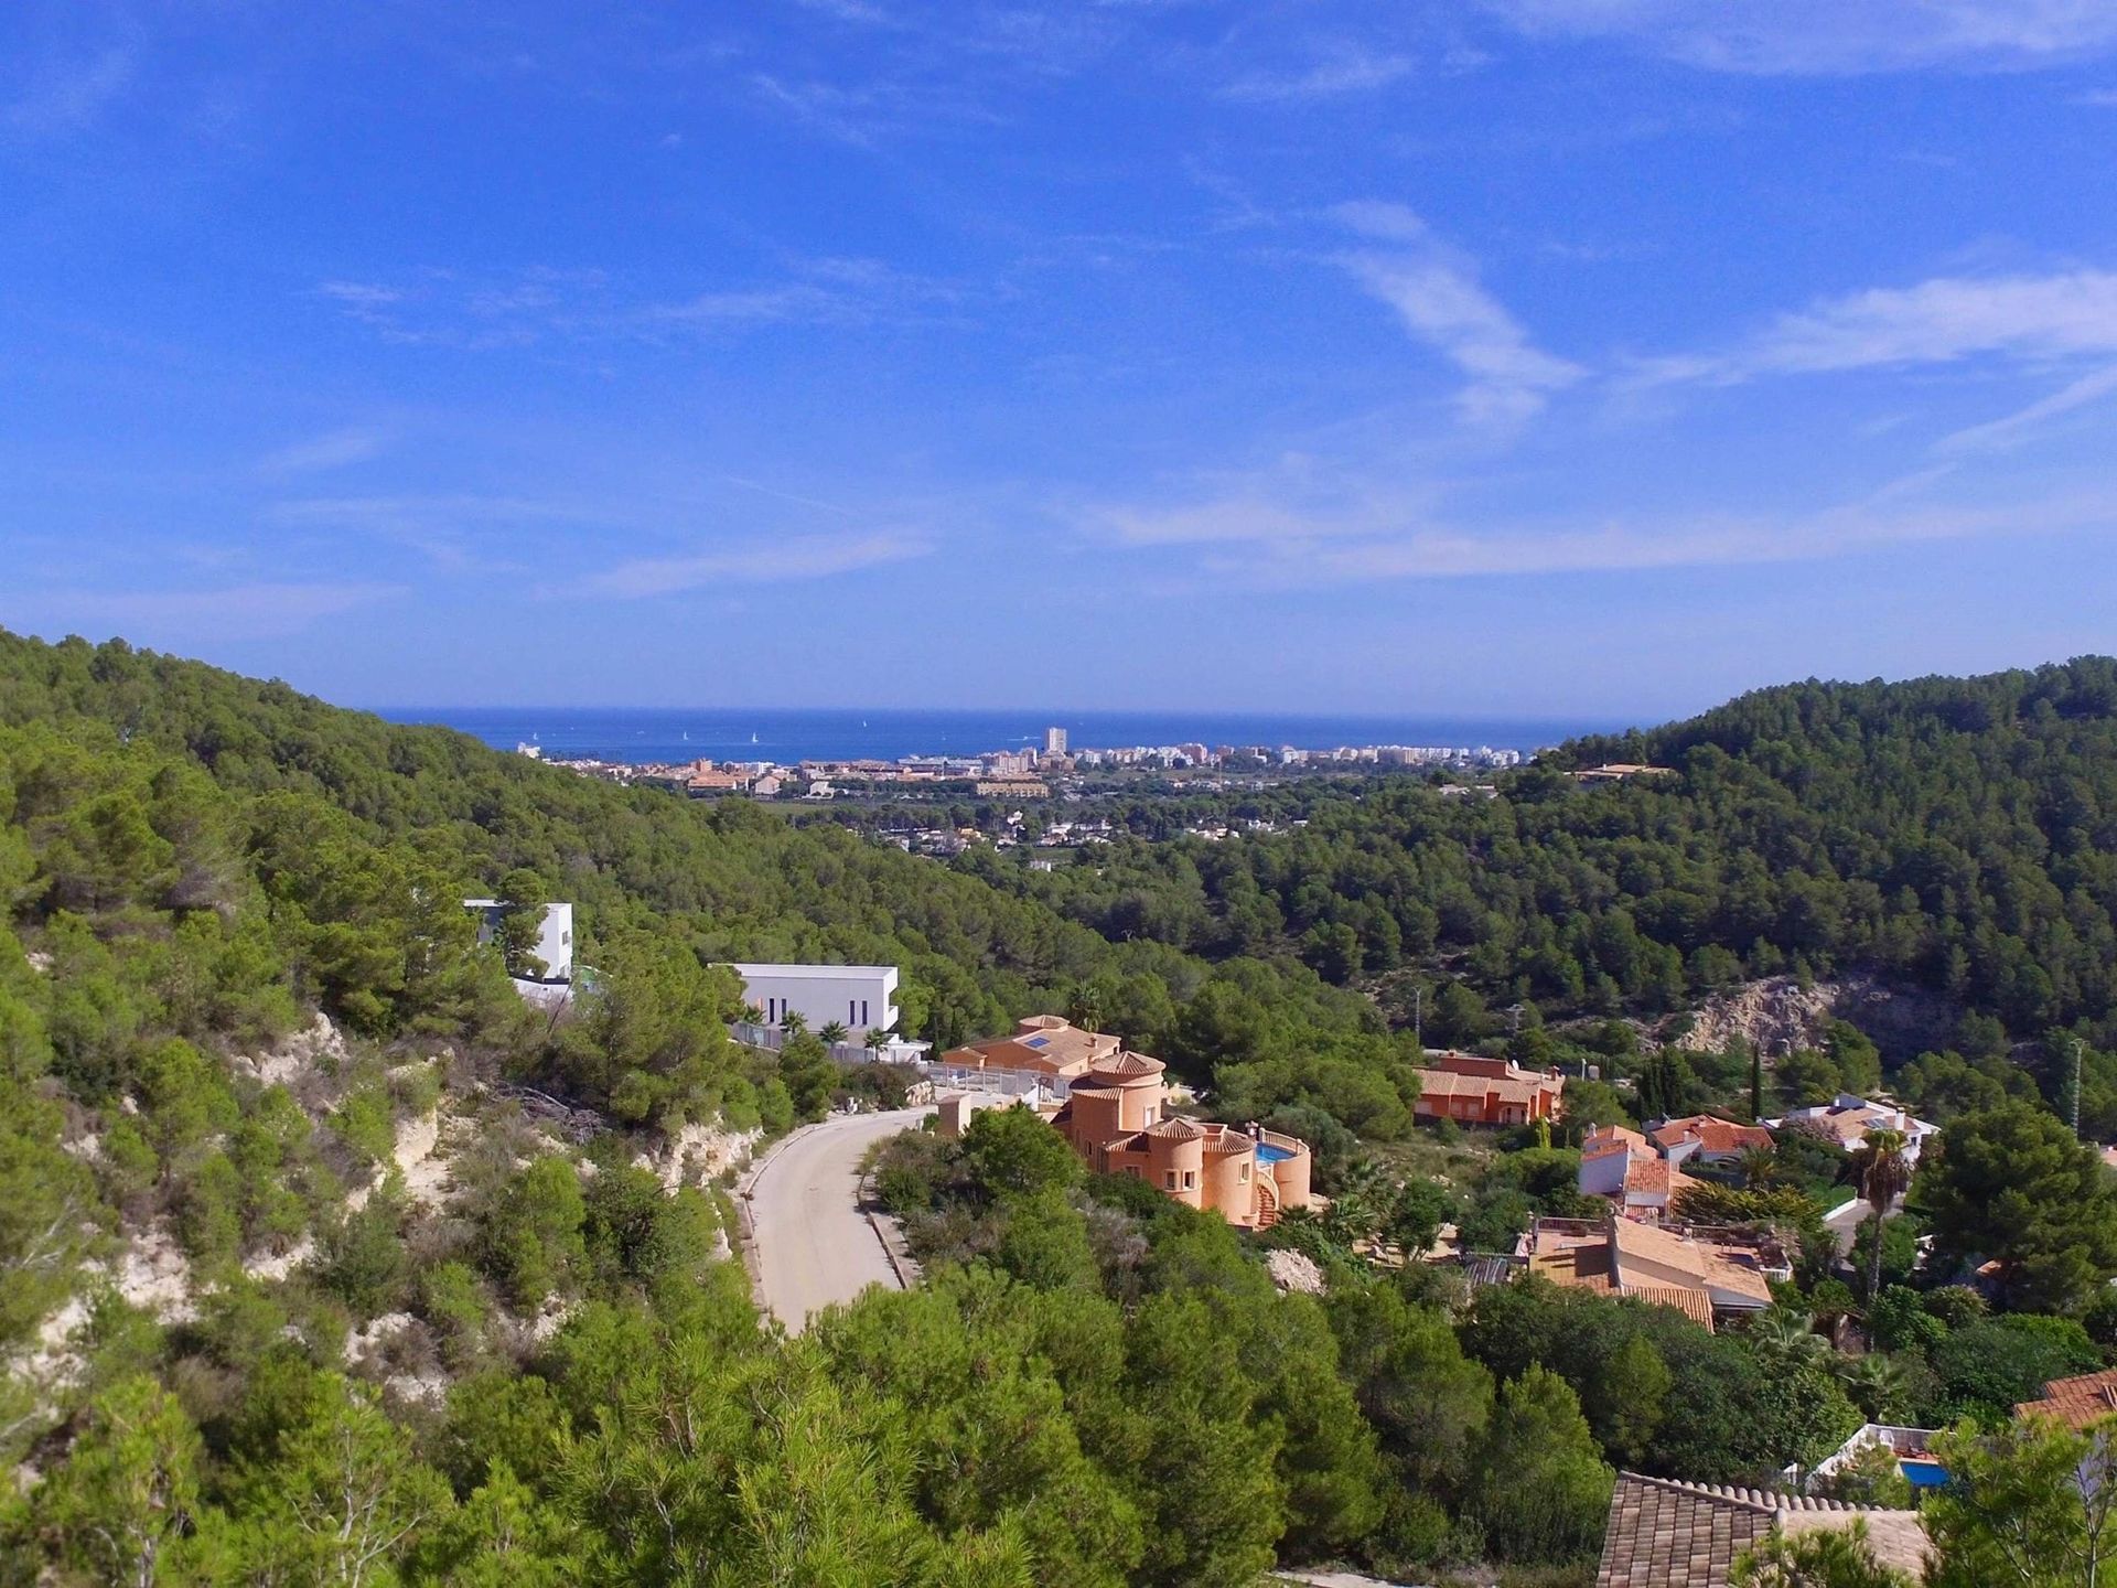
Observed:
[[[1404,205],[1346,203],[1334,216],[1374,239],[1372,248],[1342,254],[1338,263],[1387,303],[1412,337],[1469,377],[1456,404],[1471,421],[1520,423],[1586,375],[1579,364],[1539,349],[1478,282],[1476,263]]]

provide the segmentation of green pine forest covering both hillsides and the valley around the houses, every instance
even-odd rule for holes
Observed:
[[[1677,773],[1567,777],[1605,760]],[[576,904],[572,1014],[514,995],[474,894]],[[1293,832],[1031,872],[0,633],[0,1582],[1556,1588],[1592,1580],[1620,1467],[1759,1482],[1865,1419],[1971,1440],[2117,1349],[2117,1190],[2068,1124],[2117,1137],[2106,658],[1761,690],[1490,798],[1376,779]],[[942,1044],[1118,1031],[1308,1137],[1332,1207],[1236,1234],[982,1114],[876,1162],[927,1283],[788,1340],[724,1186],[652,1165],[902,1078],[735,1046],[728,959],[898,963]],[[1664,1046],[1768,976],[1941,1016]],[[1412,1008],[1429,1044],[1600,1078],[1556,1135],[1414,1124]],[[1751,1330],[1399,1260],[1581,1211],[1590,1122],[1840,1086],[1941,1148],[1850,1262],[1814,1143],[1708,1186],[1799,1251]],[[402,1162],[436,1131],[440,1188]],[[1842,1321],[1874,1349],[1831,1349]],[[1971,1582],[2020,1518],[1958,1510]]]

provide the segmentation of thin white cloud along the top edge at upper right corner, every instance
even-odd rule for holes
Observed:
[[[2117,49],[2104,0],[1484,0],[1539,38],[1620,38],[1717,72],[2009,70]]]

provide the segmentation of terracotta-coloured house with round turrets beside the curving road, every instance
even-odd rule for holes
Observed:
[[[1188,1207],[1262,1230],[1308,1207],[1308,1143],[1255,1124],[1169,1118],[1162,1061],[1111,1052],[1088,1063],[1052,1118],[1088,1167],[1133,1175]]]

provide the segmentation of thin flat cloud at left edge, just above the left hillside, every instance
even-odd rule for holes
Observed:
[[[121,635],[144,644],[286,639],[324,618],[402,595],[379,582],[256,582],[203,591],[44,589],[0,595],[8,627],[57,637]]]

